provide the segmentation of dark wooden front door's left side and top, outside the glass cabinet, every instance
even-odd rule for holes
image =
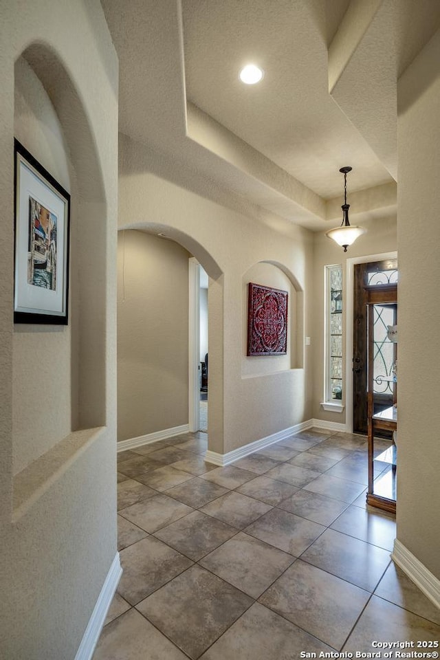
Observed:
[[[367,432],[369,289],[397,281],[397,259],[360,263],[354,270],[353,433]]]

